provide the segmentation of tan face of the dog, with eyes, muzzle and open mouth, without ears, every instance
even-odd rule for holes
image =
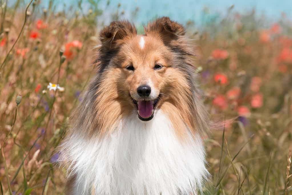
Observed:
[[[163,42],[153,36],[137,35],[121,46],[114,60],[119,63],[120,81],[118,88],[127,93],[124,97],[129,106],[137,109],[142,121],[154,117],[162,94],[171,77],[171,65],[167,56],[171,55]]]

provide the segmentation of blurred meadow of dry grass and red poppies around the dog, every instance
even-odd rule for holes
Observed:
[[[95,74],[102,10],[0,4],[0,193],[63,194],[56,147]],[[123,14],[117,5],[112,20]],[[203,137],[211,177],[202,194],[292,194],[291,20],[230,7],[185,26],[210,118],[225,121]]]

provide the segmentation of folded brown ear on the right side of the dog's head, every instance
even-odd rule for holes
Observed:
[[[161,39],[168,43],[185,35],[185,28],[178,22],[170,20],[168,17],[157,18],[144,27],[146,34],[159,35]]]

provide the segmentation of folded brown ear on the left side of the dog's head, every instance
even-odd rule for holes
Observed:
[[[128,20],[113,21],[109,26],[104,27],[99,34],[102,47],[111,49],[121,43],[121,40],[127,36],[134,36],[137,34],[137,29],[134,24]]]

